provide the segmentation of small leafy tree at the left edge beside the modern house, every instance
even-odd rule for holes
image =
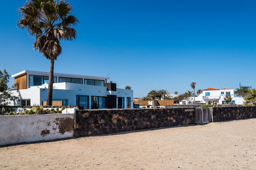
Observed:
[[[19,97],[13,96],[11,89],[8,87],[10,75],[7,73],[6,69],[0,71],[0,113],[7,111],[8,105],[11,101],[19,99]]]

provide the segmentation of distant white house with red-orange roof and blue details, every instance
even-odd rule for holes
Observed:
[[[202,90],[202,94],[195,97],[195,104],[226,104],[224,97],[230,96],[232,98],[232,104],[243,104],[243,97],[238,97],[234,94],[234,89],[215,89],[208,88]],[[186,100],[180,102],[180,104],[193,104],[194,97],[189,97]]]

